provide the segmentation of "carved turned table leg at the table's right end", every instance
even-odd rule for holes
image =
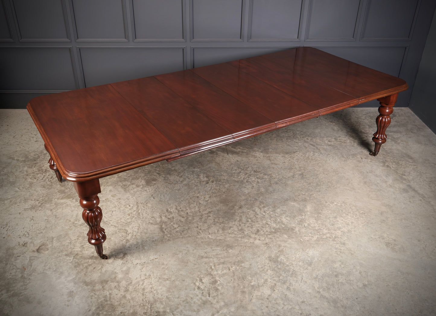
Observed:
[[[393,106],[397,101],[398,93],[393,95],[388,95],[387,97],[377,99],[380,101],[380,107],[378,108],[379,116],[375,119],[377,123],[377,132],[374,133],[374,137],[372,141],[375,143],[374,151],[371,153],[371,156],[377,156],[380,151],[381,145],[386,143],[386,129],[389,124],[391,124],[390,115],[394,112]]]

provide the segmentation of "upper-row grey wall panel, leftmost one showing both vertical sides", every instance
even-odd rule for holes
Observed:
[[[13,0],[21,40],[68,41],[61,0]]]

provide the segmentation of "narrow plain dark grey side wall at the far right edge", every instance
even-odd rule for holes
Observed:
[[[422,53],[410,109],[436,134],[436,12]]]

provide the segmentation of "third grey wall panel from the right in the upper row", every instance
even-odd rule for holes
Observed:
[[[250,40],[297,40],[302,0],[251,0]]]

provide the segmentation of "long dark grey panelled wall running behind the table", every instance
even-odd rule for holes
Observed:
[[[435,0],[0,0],[0,107],[313,46],[405,79]],[[366,106],[378,106],[372,101]]]

